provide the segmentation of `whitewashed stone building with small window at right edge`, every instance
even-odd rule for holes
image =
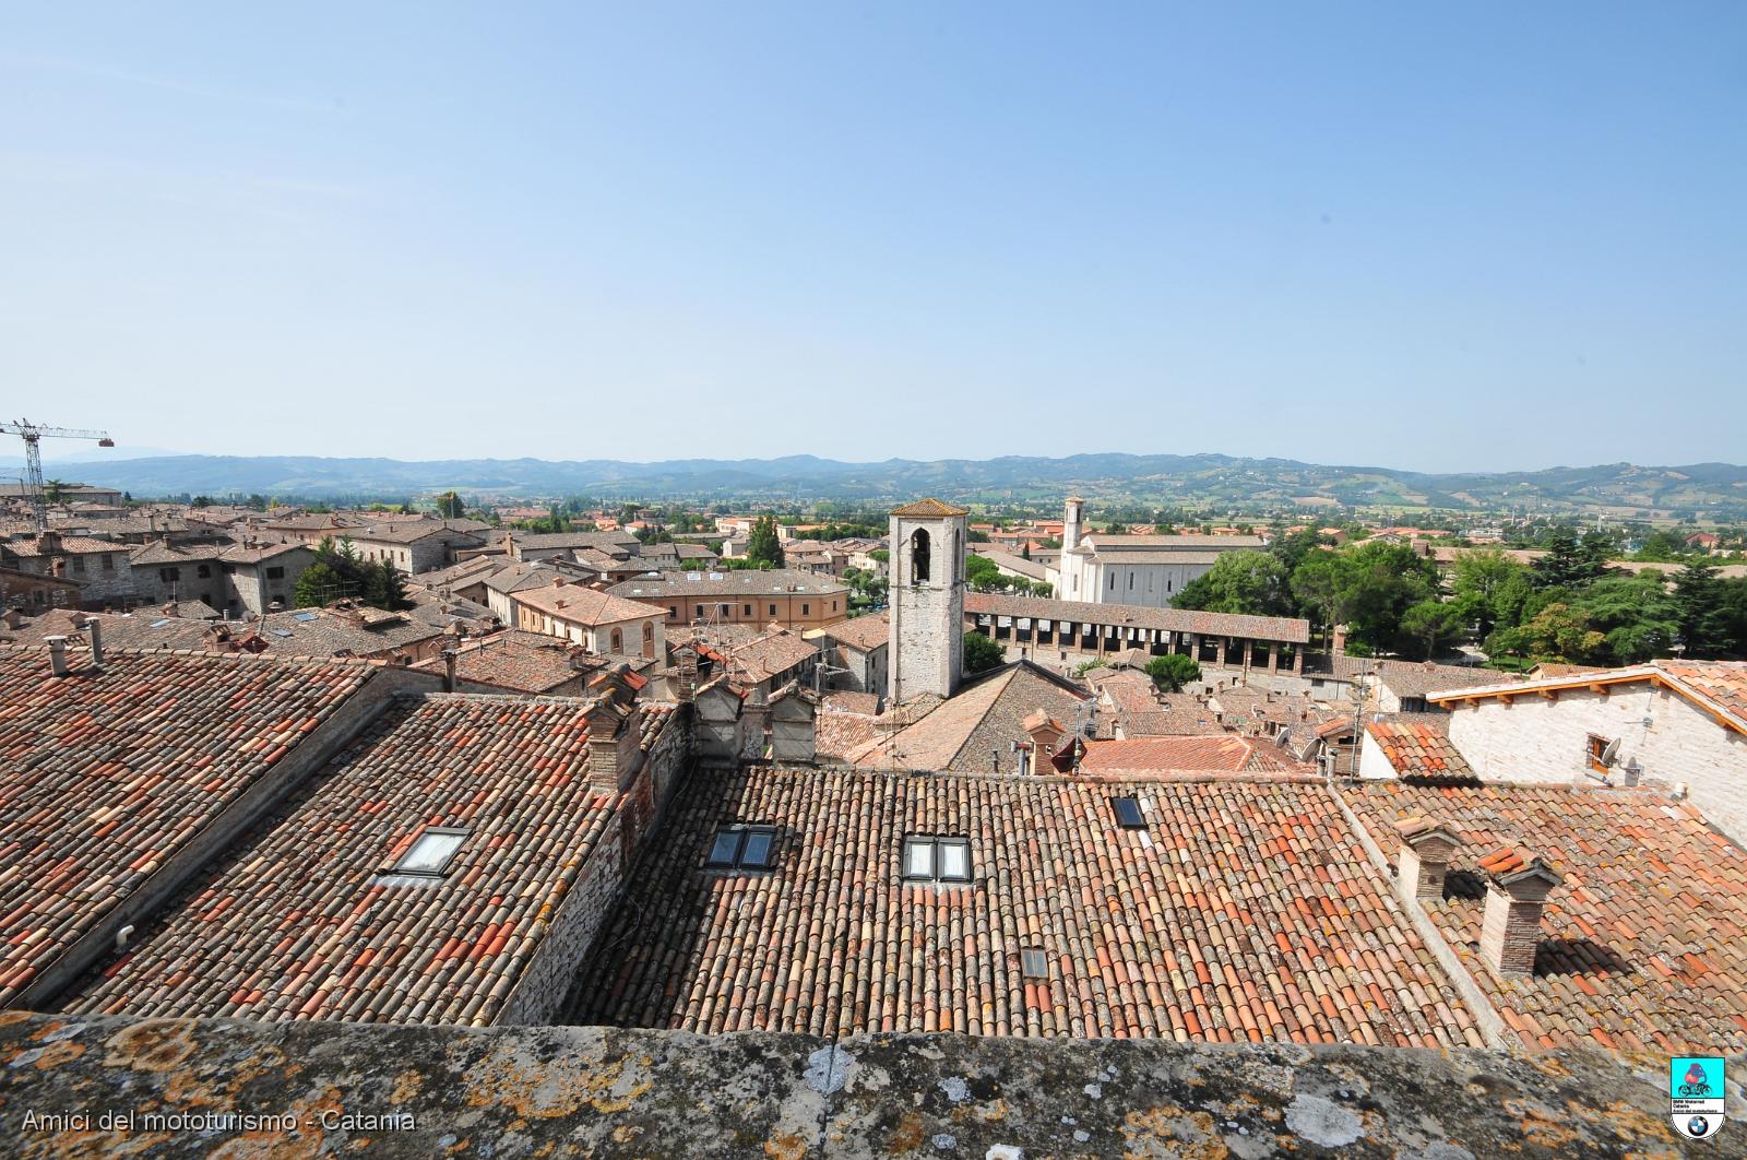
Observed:
[[[1684,786],[1747,840],[1747,664],[1654,660],[1429,694],[1485,781]]]

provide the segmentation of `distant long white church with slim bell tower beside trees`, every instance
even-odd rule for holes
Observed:
[[[1081,535],[1085,500],[1067,498],[1062,557],[1048,580],[1057,599],[1170,608],[1170,597],[1212,570],[1221,552],[1260,550],[1261,536]]]

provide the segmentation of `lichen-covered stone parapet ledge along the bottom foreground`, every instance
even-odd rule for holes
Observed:
[[[1740,1074],[1689,1144],[1600,1052],[0,1015],[19,1157],[1742,1157]]]

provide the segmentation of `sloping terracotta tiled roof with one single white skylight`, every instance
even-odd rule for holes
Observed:
[[[397,702],[66,1010],[489,1022],[611,818],[587,739],[577,701]],[[379,877],[425,826],[470,830],[445,873]]]

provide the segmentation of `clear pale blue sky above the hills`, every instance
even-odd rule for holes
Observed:
[[[0,411],[1747,459],[1747,5],[12,5]]]

